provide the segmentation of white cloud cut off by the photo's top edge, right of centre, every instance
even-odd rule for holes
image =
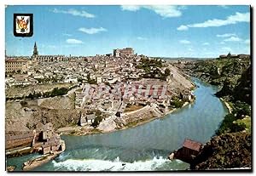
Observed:
[[[137,11],[139,9],[149,9],[154,11],[155,14],[159,14],[164,18],[178,17],[182,15],[181,9],[185,9],[184,6],[172,6],[172,5],[122,5],[122,10]]]

